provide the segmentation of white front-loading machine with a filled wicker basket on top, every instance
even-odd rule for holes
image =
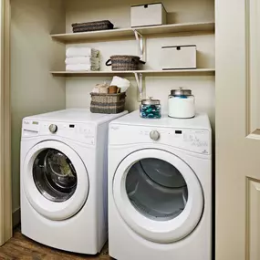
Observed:
[[[67,109],[23,120],[22,234],[97,254],[107,241],[107,145],[117,115]]]

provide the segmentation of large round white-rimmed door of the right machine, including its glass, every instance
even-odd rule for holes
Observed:
[[[130,228],[157,243],[191,234],[203,214],[196,174],[167,151],[145,149],[127,156],[115,172],[113,196]]]

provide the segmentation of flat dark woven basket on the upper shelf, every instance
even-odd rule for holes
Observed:
[[[114,28],[114,25],[109,20],[72,24],[71,26],[73,29],[73,33],[110,30]]]

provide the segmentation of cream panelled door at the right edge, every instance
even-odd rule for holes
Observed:
[[[260,1],[216,0],[216,259],[260,259]]]

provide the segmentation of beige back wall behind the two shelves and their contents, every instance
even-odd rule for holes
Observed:
[[[71,24],[100,19],[109,19],[116,27],[130,27],[130,5],[151,3],[140,0],[111,1],[66,1],[66,30],[71,32]],[[154,1],[158,2],[158,1]],[[214,20],[213,0],[165,0],[169,12],[170,23],[205,22]],[[172,36],[149,38],[147,41],[147,64],[144,69],[161,69],[161,46],[197,45],[198,68],[214,68],[214,35]],[[105,62],[111,55],[138,55],[138,47],[134,40],[90,42],[88,44],[68,45],[95,47],[100,50],[101,70],[109,70]],[[127,109],[139,108],[137,101],[137,85],[134,78],[129,78],[131,87],[128,90]],[[89,92],[97,83],[109,82],[111,78],[68,78],[66,80],[67,108],[89,107]],[[209,114],[214,127],[214,77],[147,77],[145,78],[146,96],[161,99],[162,109],[167,110],[167,100],[172,88],[190,88],[196,98],[198,111]]]

